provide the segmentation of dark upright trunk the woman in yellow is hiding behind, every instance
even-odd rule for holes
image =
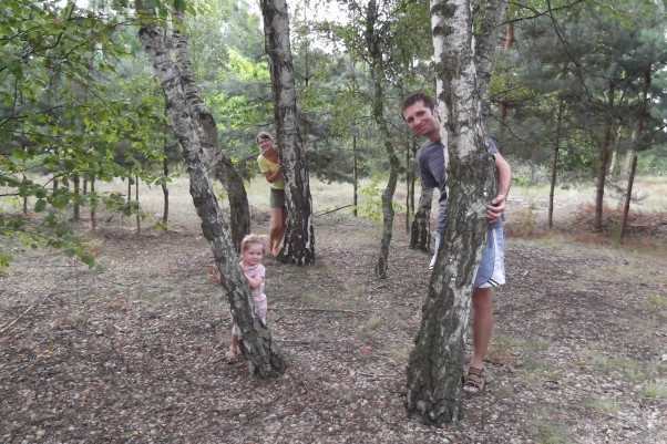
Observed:
[[[315,261],[315,229],[308,166],[297,120],[297,93],[289,47],[285,0],[261,0],[266,52],[269,59],[278,147],[285,178],[285,238],[278,260],[300,266]]]

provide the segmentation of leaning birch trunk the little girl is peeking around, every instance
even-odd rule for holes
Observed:
[[[229,230],[206,172],[206,162],[199,135],[195,130],[195,118],[188,111],[185,92],[176,66],[168,56],[162,30],[156,24],[153,11],[136,0],[140,13],[138,37],[155,76],[160,80],[166,96],[167,114],[174,126],[176,138],[183,148],[183,157],[189,174],[189,193],[197,214],[202,218],[204,237],[211,245],[215,264],[220,272],[223,288],[232,306],[234,322],[242,330],[240,348],[252,375],[275,376],[285,372],[285,359],[270,332],[255,313],[250,288],[242,275],[236,250],[232,245]]]

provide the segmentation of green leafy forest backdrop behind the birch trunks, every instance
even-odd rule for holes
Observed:
[[[257,174],[255,135],[276,132],[259,11],[243,2],[175,6],[188,12],[193,73],[217,122],[219,146],[250,179]],[[389,162],[379,143],[384,134],[373,120],[378,97],[363,45],[371,23],[363,7],[305,2],[293,6],[290,20],[308,169],[324,182],[351,183],[351,210],[372,219],[379,218]],[[138,233],[146,219],[151,229],[173,229],[168,192],[183,174],[181,153],[136,38],[133,10],[123,1],[10,1],[2,9],[3,235],[33,247],[60,247],[93,265],[95,242],[86,242],[85,231],[95,231],[98,215],[106,221],[133,216]],[[408,225],[419,189],[413,158],[421,141],[407,132],[398,110],[410,91],[434,92],[429,11],[419,2],[381,2],[377,11],[372,27],[384,66],[380,100],[393,143],[403,152]],[[664,3],[648,1],[509,7],[497,35],[489,126],[514,167],[515,186],[546,195],[544,228],[554,223],[556,194],[593,184],[594,218],[582,230],[602,234],[596,240],[620,240],[620,206],[643,198],[625,198],[635,174],[644,184],[663,180],[664,18]],[[125,189],[104,185],[119,180]],[[162,187],[162,215],[142,205],[140,185]],[[225,193],[217,193],[224,200]],[[618,208],[605,206],[609,197]],[[664,231],[664,204],[657,205],[630,228],[651,235],[655,242],[644,247],[659,250],[664,237],[653,235]],[[536,206],[525,205],[520,234],[537,235]],[[20,251],[13,242],[3,246],[2,267],[10,266],[12,251]]]

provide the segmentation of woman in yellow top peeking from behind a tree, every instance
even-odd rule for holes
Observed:
[[[278,256],[285,231],[285,180],[283,179],[280,156],[274,138],[268,133],[257,134],[256,141],[261,151],[257,157],[257,164],[259,164],[259,171],[268,180],[271,189],[269,197],[271,221],[268,231],[268,248],[274,256]]]

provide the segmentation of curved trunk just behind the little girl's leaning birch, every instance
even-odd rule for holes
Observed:
[[[234,247],[238,251],[240,241],[245,235],[250,233],[250,207],[248,195],[243,185],[243,178],[232,165],[232,162],[223,155],[218,144],[217,127],[213,114],[199,95],[192,73],[187,39],[179,30],[184,25],[183,12],[174,12],[173,39],[176,47],[176,64],[181,73],[181,83],[185,90],[187,105],[193,111],[198,122],[199,140],[208,164],[213,167],[215,177],[223,184],[229,198],[229,227]]]

